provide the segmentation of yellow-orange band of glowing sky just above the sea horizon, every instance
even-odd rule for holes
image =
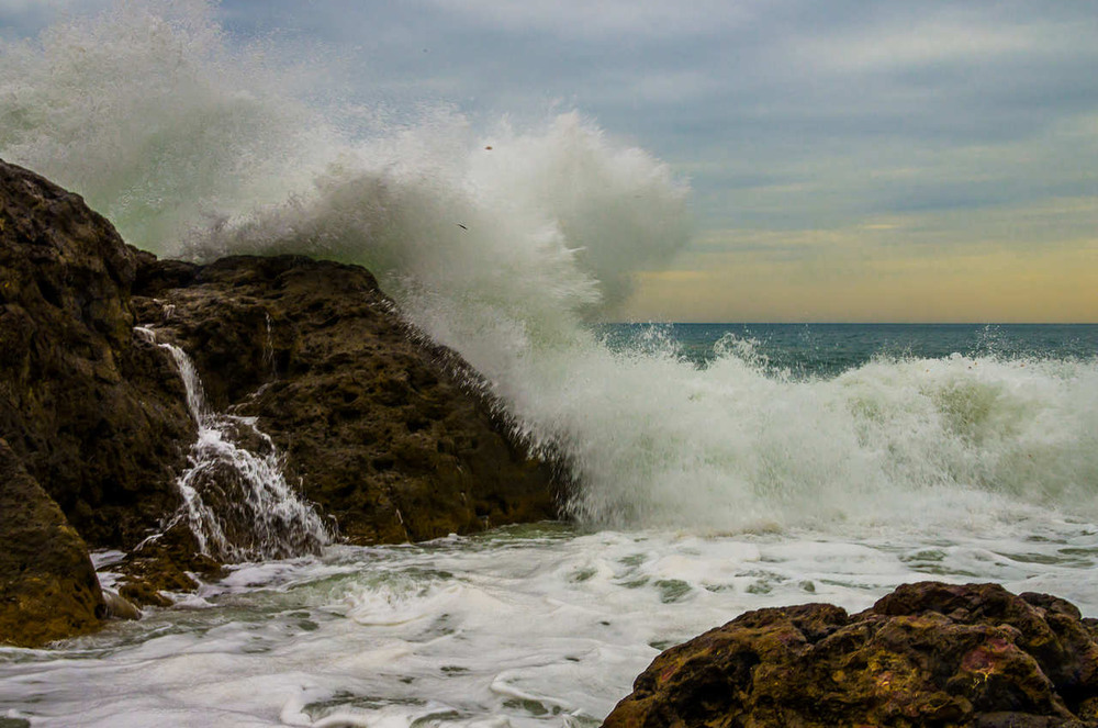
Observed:
[[[1054,245],[881,245],[773,233],[737,250],[710,238],[636,276],[618,321],[1098,323],[1098,237]],[[729,234],[735,239],[736,235]],[[777,242],[773,245],[765,243]],[[757,240],[758,243],[759,240]]]

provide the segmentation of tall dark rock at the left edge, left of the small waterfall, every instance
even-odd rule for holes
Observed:
[[[170,356],[134,336],[136,270],[79,195],[0,161],[0,437],[96,546],[176,507],[194,437]]]

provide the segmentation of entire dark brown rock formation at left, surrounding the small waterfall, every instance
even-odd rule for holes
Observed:
[[[138,323],[163,338],[135,335]],[[144,603],[217,568],[195,553],[186,519],[146,540],[179,513],[198,433],[160,340],[194,359],[213,408],[258,417],[290,482],[351,541],[556,514],[547,467],[508,436],[474,372],[404,323],[366,270],[300,257],[158,261],[79,195],[0,160],[0,621],[24,625],[0,641],[98,624],[81,538],[143,545],[121,569],[123,594]],[[53,545],[41,559],[8,546],[24,538]],[[25,627],[51,604],[68,627]]]

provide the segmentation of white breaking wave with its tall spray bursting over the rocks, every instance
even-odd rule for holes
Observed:
[[[720,534],[1094,515],[1094,358],[894,357],[797,378],[742,338],[704,365],[659,337],[607,346],[590,322],[613,314],[631,273],[687,245],[687,188],[579,113],[480,128],[450,109],[386,126],[315,108],[302,99],[323,69],[235,48],[202,2],[122,3],[0,59],[0,156],[159,255],[369,267],[485,376],[523,435],[563,453],[580,524]]]

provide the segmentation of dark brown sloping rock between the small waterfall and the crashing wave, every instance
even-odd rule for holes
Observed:
[[[181,346],[211,405],[259,417],[304,494],[355,542],[552,518],[548,468],[507,437],[457,355],[365,269],[294,256],[141,260],[142,321]]]

